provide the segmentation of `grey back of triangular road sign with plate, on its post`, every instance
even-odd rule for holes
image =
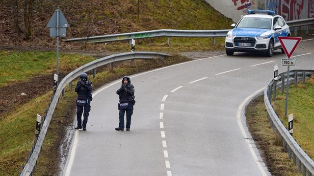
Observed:
[[[66,37],[66,28],[70,27],[69,23],[65,19],[62,11],[58,7],[50,21],[47,24],[47,27],[50,28],[50,37],[57,37],[57,84],[58,84],[58,75],[59,75],[59,37]]]

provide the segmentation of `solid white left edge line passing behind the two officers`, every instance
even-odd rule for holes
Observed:
[[[220,56],[225,56],[225,54],[224,55],[219,55],[219,56],[212,56],[212,57],[208,57],[208,58],[203,58],[203,59],[210,59],[210,58],[215,58],[215,57],[220,57]],[[197,61],[200,61],[200,60],[203,60],[203,59],[197,59],[197,60],[183,62],[183,63],[171,65],[171,66],[165,66],[165,67],[157,68],[157,69],[154,69],[154,70],[150,70],[150,71],[146,71],[146,72],[143,72],[143,73],[135,74],[133,76],[130,76],[130,78],[134,78],[134,77],[137,77],[137,76],[140,76],[140,75],[143,75],[143,74],[147,74],[147,73],[151,73],[151,72],[154,72],[154,71],[158,71],[158,70],[161,70],[161,69],[170,68],[170,67],[173,67],[173,66],[180,66],[180,65],[183,65],[183,64],[197,62]],[[93,92],[93,96],[97,95],[99,92],[103,91],[104,89],[109,88],[109,87],[111,87],[111,86],[113,86],[115,84],[118,84],[118,83],[121,83],[121,81],[119,80],[119,81],[113,82],[113,83],[111,83],[111,84],[109,84],[109,85],[107,85],[105,87],[97,89],[95,92]],[[74,140],[76,140],[76,139],[74,139]],[[77,148],[77,143],[78,143],[78,137],[77,137],[77,142],[74,141],[74,144],[72,145],[72,149],[70,149],[71,150],[71,155],[70,155],[70,158],[69,158],[69,163],[67,164],[67,168],[66,168],[66,173],[68,173],[68,175],[66,175],[66,176],[69,176],[69,174],[70,174],[70,171],[71,171],[71,168],[72,168],[72,164],[73,164],[73,160],[74,160],[75,151],[76,151],[76,148]]]

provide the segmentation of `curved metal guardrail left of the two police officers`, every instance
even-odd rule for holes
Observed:
[[[20,173],[20,176],[32,176],[32,173],[34,172],[35,165],[37,163],[37,159],[39,156],[39,153],[41,151],[44,138],[46,136],[50,121],[53,116],[53,111],[58,103],[59,96],[62,93],[62,90],[66,87],[68,83],[76,79],[81,73],[90,71],[94,68],[97,68],[99,66],[104,66],[106,64],[110,64],[113,62],[118,61],[126,61],[126,60],[132,60],[132,59],[153,59],[153,58],[164,58],[166,56],[170,56],[168,54],[163,53],[157,53],[157,52],[127,52],[127,53],[120,53],[120,54],[114,54],[110,56],[106,56],[104,58],[97,59],[95,61],[92,61],[88,64],[85,64],[83,66],[78,67],[74,71],[70,72],[68,75],[66,75],[60,84],[58,85],[52,102],[50,104],[49,110],[46,114],[46,117],[44,119],[44,122],[42,123],[42,128],[39,133],[38,139],[35,143],[35,146],[32,148],[32,152],[30,154],[29,159],[27,160],[27,163],[25,167],[23,168],[23,171]]]

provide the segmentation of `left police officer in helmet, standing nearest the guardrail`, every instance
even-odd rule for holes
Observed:
[[[78,126],[75,130],[82,129],[86,131],[87,118],[90,111],[90,101],[92,101],[92,83],[88,81],[88,76],[86,73],[79,75],[79,81],[75,91],[78,93],[77,99],[77,120]],[[83,113],[84,111],[84,113]],[[83,123],[82,123],[82,113],[83,113]]]

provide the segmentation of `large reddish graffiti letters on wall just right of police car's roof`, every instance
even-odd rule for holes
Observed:
[[[279,0],[278,3],[279,15],[283,16],[286,21],[301,19],[304,0]]]

